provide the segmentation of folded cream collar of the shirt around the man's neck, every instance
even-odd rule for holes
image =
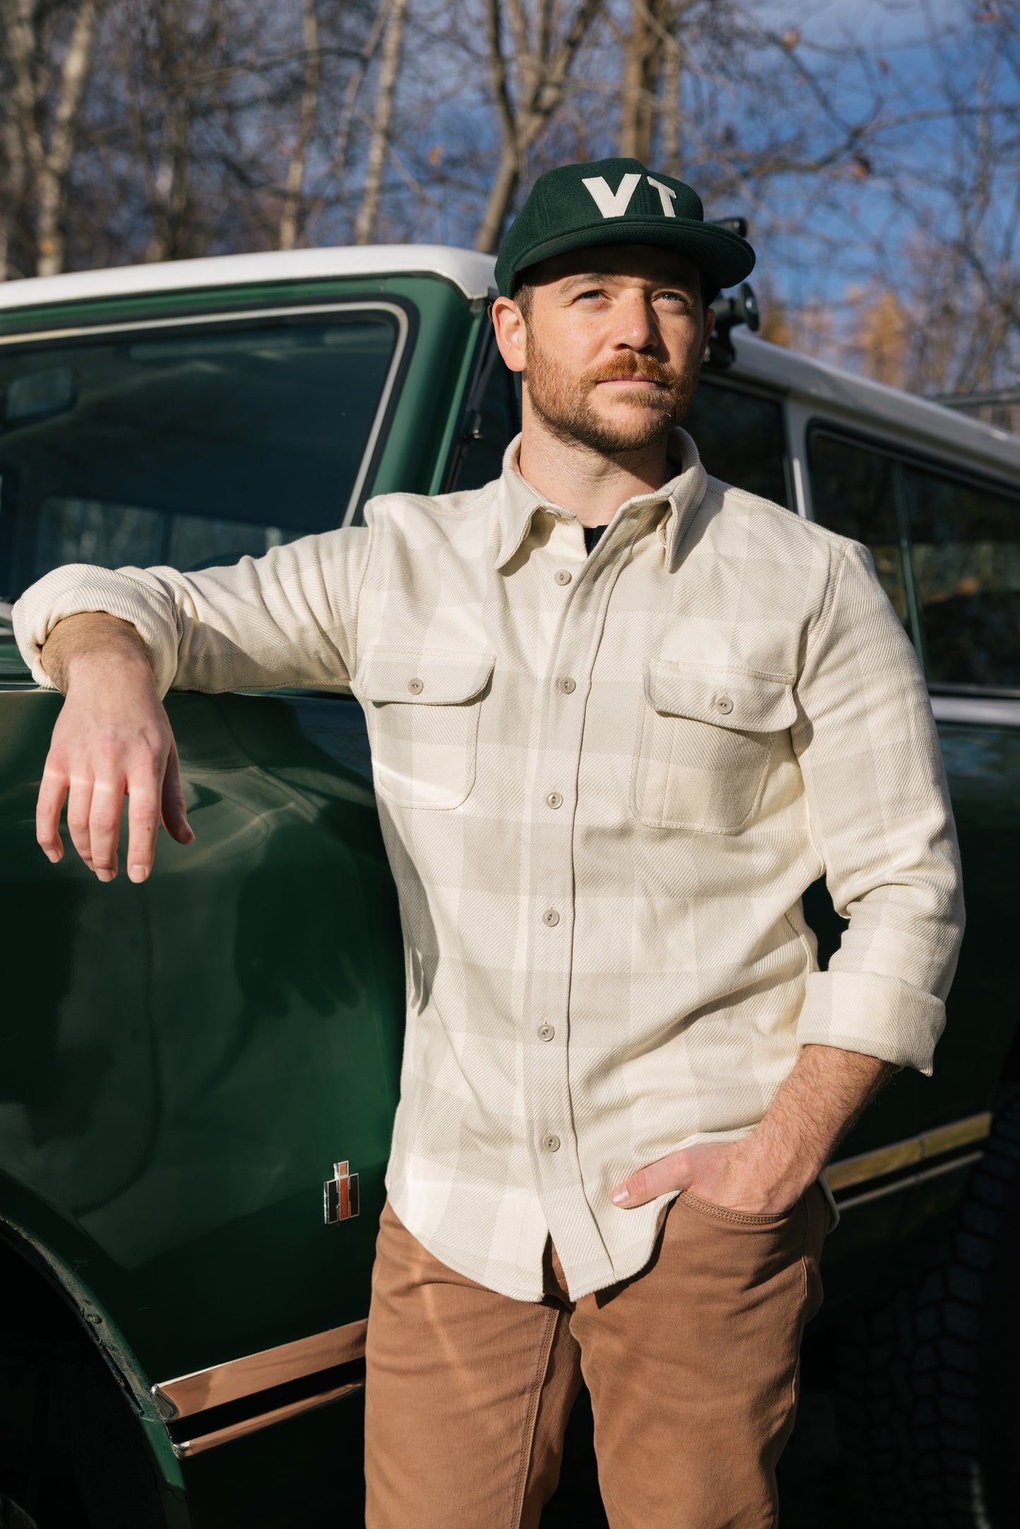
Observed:
[[[575,520],[577,517],[561,505],[554,505],[544,498],[537,488],[523,479],[517,469],[520,454],[520,436],[514,436],[503,453],[503,472],[497,491],[499,515],[499,552],[495,567],[502,569],[514,557],[531,531],[531,523],[537,511],[554,515],[557,520]],[[648,515],[665,508],[665,515],[659,517],[659,540],[665,549],[667,567],[676,567],[676,550],[681,531],[694,514],[705,495],[707,474],[697,456],[697,446],[679,427],[670,437],[670,463],[679,471],[662,488],[651,494],[638,494],[619,506],[615,521],[635,515]]]

